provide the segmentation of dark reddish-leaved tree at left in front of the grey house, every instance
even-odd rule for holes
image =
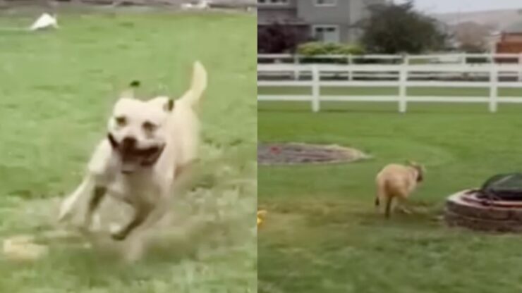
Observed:
[[[272,23],[257,27],[257,52],[277,54],[293,52],[298,44],[308,40],[297,27]]]

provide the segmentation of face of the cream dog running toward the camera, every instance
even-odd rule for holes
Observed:
[[[122,97],[108,123],[108,138],[121,158],[121,172],[153,166],[166,144],[166,122],[174,104],[166,98]]]

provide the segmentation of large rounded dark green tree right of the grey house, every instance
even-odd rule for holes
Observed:
[[[360,42],[375,54],[420,54],[444,49],[447,35],[439,29],[437,20],[406,4],[378,4],[370,6],[370,16],[360,23],[363,29]]]

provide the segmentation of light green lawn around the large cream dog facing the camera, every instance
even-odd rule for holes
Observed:
[[[31,20],[3,15],[0,26]],[[40,261],[0,256],[0,292],[255,292],[255,17],[121,11],[59,21],[54,32],[0,30],[0,238],[54,229],[57,200],[80,182],[121,89],[138,79],[145,94],[179,96],[197,59],[210,74],[202,162],[213,163],[190,197],[179,195],[179,212],[210,223],[132,266],[54,242]]]

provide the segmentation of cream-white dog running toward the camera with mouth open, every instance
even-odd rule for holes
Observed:
[[[59,220],[71,216],[87,199],[85,228],[106,194],[134,208],[130,223],[112,232],[123,240],[166,211],[174,183],[197,158],[200,122],[195,107],[207,87],[205,68],[196,62],[190,89],[175,102],[166,96],[149,101],[124,92],[109,119],[108,134],[97,146],[87,175],[61,204]]]

